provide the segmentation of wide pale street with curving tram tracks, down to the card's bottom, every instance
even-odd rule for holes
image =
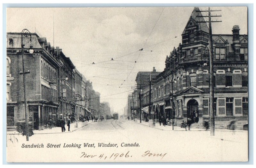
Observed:
[[[163,126],[164,127],[164,126]],[[171,126],[167,126],[171,127]],[[174,129],[177,129],[175,127]],[[63,161],[69,154],[77,155],[77,159],[74,162],[84,161],[105,161],[115,162],[121,161],[124,158],[117,157],[108,158],[112,153],[127,153],[134,157],[127,157],[125,160],[132,162],[145,162],[145,161],[246,161],[248,147],[247,147],[247,131],[216,131],[215,136],[210,136],[210,131],[167,131],[160,130],[139,122],[128,121],[127,119],[119,120],[105,120],[101,122],[92,122],[80,129],[73,132],[60,132],[55,134],[35,134],[29,137],[29,142],[26,141],[26,137],[22,135],[15,135],[18,138],[19,143],[14,145],[9,143],[7,147],[8,155],[10,152],[12,156],[20,156],[20,152],[39,152],[40,148],[22,148],[22,144],[44,144],[44,152],[49,152],[49,156],[40,158],[36,155],[27,158],[25,155],[20,156],[19,160],[34,160],[34,161],[50,161],[54,158],[55,161]],[[8,139],[8,137],[7,137]],[[73,145],[81,144],[80,148],[72,146],[70,148],[63,149],[67,144]],[[94,144],[93,147],[84,147],[84,143]],[[117,147],[99,147],[99,144],[117,144]],[[135,147],[125,147],[126,143],[138,144]],[[47,144],[60,144],[60,148],[52,150],[52,148],[46,148]],[[135,144],[135,145],[136,145]],[[154,153],[166,153],[161,159],[159,157],[149,157],[142,155],[146,151]],[[58,152],[67,152],[67,156],[63,155],[61,158],[57,157]],[[81,159],[81,153],[85,152],[90,155],[97,155],[97,157],[90,159]],[[102,160],[99,158],[101,154],[105,154],[107,158]],[[13,155],[14,154],[14,155]],[[104,155],[104,156],[105,156]],[[223,157],[223,156],[229,157]],[[135,157],[136,156],[136,157]],[[13,158],[13,157],[11,157]],[[17,159],[17,158],[15,158]],[[10,159],[11,161],[11,159]]]

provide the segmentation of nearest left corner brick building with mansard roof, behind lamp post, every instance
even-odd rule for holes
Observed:
[[[30,54],[29,38],[24,38],[24,64],[26,75],[29,121],[34,129],[44,129],[49,119],[55,119],[59,110],[57,75],[60,63],[56,60],[54,47],[31,33],[34,53]],[[25,118],[24,88],[21,55],[21,33],[7,33],[7,128],[15,126],[16,120]],[[51,84],[51,82],[54,82]]]

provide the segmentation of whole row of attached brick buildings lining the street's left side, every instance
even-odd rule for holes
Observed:
[[[54,48],[46,38],[31,33],[34,53],[29,53],[29,37],[23,36],[26,95],[29,121],[34,129],[48,128],[49,120],[68,117],[78,120],[91,114],[92,105],[97,113],[100,93],[86,81],[60,47]],[[7,33],[6,56],[7,129],[13,130],[17,120],[24,120],[24,88],[21,55],[21,33]],[[93,99],[93,97],[97,97]],[[80,101],[77,101],[80,100]]]

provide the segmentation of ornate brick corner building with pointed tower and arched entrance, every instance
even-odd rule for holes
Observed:
[[[182,43],[166,57],[164,71],[156,76],[151,101],[156,118],[165,115],[171,119],[173,115],[176,124],[192,121],[199,128],[210,117],[209,30],[205,23],[198,23],[204,18],[196,16],[202,16],[197,7],[182,33]],[[216,128],[227,128],[232,120],[237,129],[248,123],[247,35],[240,35],[239,30],[235,25],[230,34],[212,35]],[[146,102],[147,89],[141,95]],[[142,101],[143,106],[146,102]]]

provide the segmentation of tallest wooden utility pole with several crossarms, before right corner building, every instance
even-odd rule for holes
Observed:
[[[213,45],[212,45],[212,22],[221,22],[221,21],[212,21],[211,17],[221,17],[219,16],[211,16],[211,11],[221,11],[221,10],[211,10],[208,7],[208,10],[204,12],[208,12],[208,16],[197,16],[197,17],[208,17],[209,21],[209,69],[210,69],[210,132],[211,136],[215,135],[215,118],[214,118],[214,84],[213,84]],[[202,11],[200,11],[202,12]],[[199,21],[197,23],[206,23],[206,21]]]

